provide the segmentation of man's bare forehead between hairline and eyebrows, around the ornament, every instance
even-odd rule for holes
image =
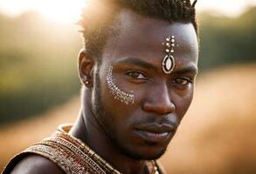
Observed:
[[[114,62],[124,57],[146,58],[147,61],[162,60],[166,37],[175,36],[176,62],[197,64],[197,34],[191,23],[168,23],[150,17],[142,17],[132,10],[122,10],[118,16],[119,33],[109,37],[103,51],[103,62]]]

